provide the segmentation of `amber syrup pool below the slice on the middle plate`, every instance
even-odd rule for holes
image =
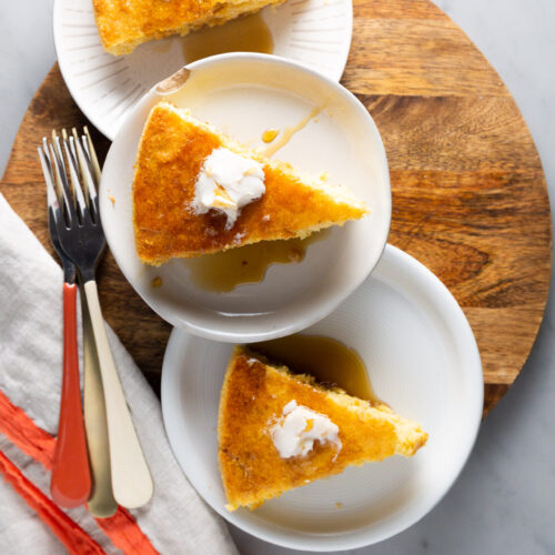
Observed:
[[[264,279],[271,264],[301,262],[311,243],[321,241],[330,230],[323,230],[306,239],[261,241],[238,249],[188,259],[190,280],[208,291],[225,293],[242,283],[258,283]]]

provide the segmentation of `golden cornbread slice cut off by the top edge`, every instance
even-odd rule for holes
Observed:
[[[221,26],[284,0],[92,0],[100,40],[111,54],[201,27]]]

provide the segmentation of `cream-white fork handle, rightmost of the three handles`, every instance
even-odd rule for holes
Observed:
[[[104,389],[113,496],[120,505],[137,508],[152,497],[152,477],[118,377],[94,280],[84,284],[84,294]]]

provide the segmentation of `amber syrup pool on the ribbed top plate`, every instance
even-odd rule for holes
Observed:
[[[185,63],[224,52],[263,52],[272,54],[274,42],[261,13],[209,27],[183,38]]]

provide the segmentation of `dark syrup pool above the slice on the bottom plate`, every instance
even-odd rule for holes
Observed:
[[[324,385],[336,385],[346,393],[379,403],[366,365],[359,353],[340,341],[322,335],[295,333],[279,340],[249,345],[272,362],[286,365],[296,374],[310,374]]]

